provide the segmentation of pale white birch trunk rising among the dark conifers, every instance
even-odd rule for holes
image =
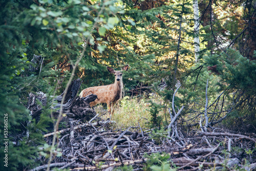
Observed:
[[[200,51],[200,46],[199,46],[199,10],[198,10],[198,0],[194,0],[193,2],[193,10],[194,10],[194,20],[195,20],[195,25],[194,25],[194,30],[196,37],[194,38],[194,43],[195,43],[195,60],[196,62],[198,61],[199,57],[199,51]]]

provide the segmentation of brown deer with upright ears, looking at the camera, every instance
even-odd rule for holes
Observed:
[[[90,102],[90,106],[95,106],[99,103],[106,103],[108,104],[108,109],[110,114],[114,113],[114,108],[119,99],[122,97],[123,92],[123,80],[122,80],[122,71],[127,71],[129,68],[129,65],[126,65],[123,67],[121,71],[115,71],[114,69],[110,67],[106,67],[110,73],[113,73],[115,75],[115,83],[106,85],[106,86],[97,86],[97,87],[90,87],[87,89],[84,89],[79,94],[81,97],[86,97],[90,94],[97,95],[97,99],[93,102]]]

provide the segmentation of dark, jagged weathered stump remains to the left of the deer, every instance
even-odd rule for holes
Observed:
[[[96,116],[96,112],[90,107],[89,103],[94,101],[97,98],[97,95],[91,94],[83,98],[77,97],[81,83],[82,81],[80,79],[76,79],[71,82],[62,105],[62,113],[72,119],[83,119],[89,121],[91,118]],[[54,99],[55,105],[52,108],[57,109],[53,112],[53,116],[55,118],[59,115],[60,103],[64,93],[65,92],[61,93],[61,95]],[[32,118],[35,118],[36,121],[38,121],[40,114],[42,113],[42,106],[36,103],[36,99],[41,102],[42,106],[45,106],[47,102],[47,95],[43,92],[29,94],[27,108],[31,111]]]

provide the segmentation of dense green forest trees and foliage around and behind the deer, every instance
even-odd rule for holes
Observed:
[[[8,114],[9,139],[8,168],[2,162],[1,170],[47,164],[49,154],[39,147],[48,148],[42,135],[56,131],[49,127],[54,98],[74,79],[82,81],[79,92],[113,83],[106,66],[129,65],[112,129],[141,122],[162,134],[173,109],[182,108],[176,126],[183,134],[218,127],[255,136],[255,0],[11,0],[0,1],[0,13],[0,138]],[[28,101],[38,92],[47,101],[36,100],[36,120]],[[122,120],[135,112],[138,118]],[[255,163],[255,142],[250,150]]]

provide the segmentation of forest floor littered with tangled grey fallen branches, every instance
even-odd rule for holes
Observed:
[[[179,130],[179,137],[166,131],[131,128],[112,130],[113,121],[92,118],[73,120],[71,129],[59,131],[53,167],[70,170],[255,170],[256,134],[231,133],[217,127],[207,132]],[[183,133],[183,134],[182,134]],[[185,134],[186,133],[186,134]],[[48,144],[53,134],[46,134]],[[55,154],[56,155],[56,154]],[[44,160],[40,156],[38,160]],[[44,165],[32,170],[45,170]]]

